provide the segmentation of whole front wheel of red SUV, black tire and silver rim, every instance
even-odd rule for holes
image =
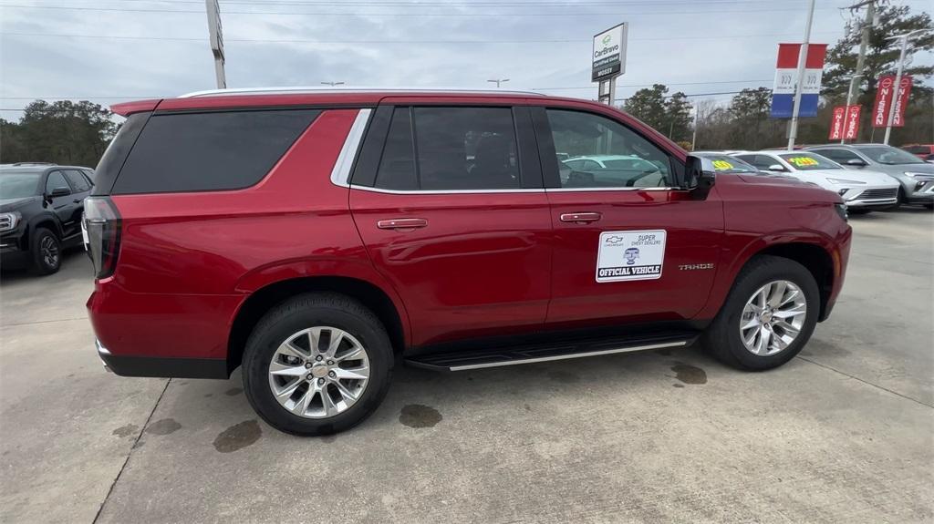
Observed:
[[[788,258],[760,255],[740,273],[703,343],[725,364],[771,369],[801,351],[819,309],[817,283],[808,269]]]

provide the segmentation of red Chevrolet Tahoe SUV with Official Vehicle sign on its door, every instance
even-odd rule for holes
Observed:
[[[678,348],[800,352],[840,293],[836,194],[690,157],[599,103],[212,91],[123,103],[85,204],[119,375],[226,379],[292,434],[457,371]],[[580,160],[580,161],[579,161]],[[715,185],[714,185],[715,183]]]

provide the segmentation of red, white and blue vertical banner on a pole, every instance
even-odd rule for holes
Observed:
[[[775,62],[775,85],[771,90],[771,117],[790,118],[795,105],[795,90],[798,87],[798,57],[800,44],[779,44],[778,61]],[[808,56],[804,60],[804,78],[801,86],[799,117],[816,117],[820,98],[820,81],[824,71],[824,55],[827,44],[809,44]]]

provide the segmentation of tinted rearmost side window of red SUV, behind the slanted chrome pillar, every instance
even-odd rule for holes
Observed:
[[[154,115],[114,194],[240,189],[262,180],[320,111]]]

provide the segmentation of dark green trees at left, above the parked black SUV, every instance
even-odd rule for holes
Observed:
[[[19,123],[0,122],[3,162],[43,161],[91,166],[117,131],[111,113],[96,103],[37,100]]]

